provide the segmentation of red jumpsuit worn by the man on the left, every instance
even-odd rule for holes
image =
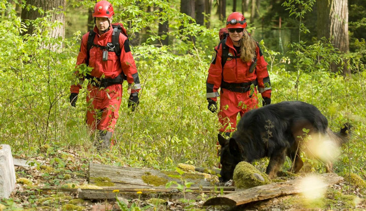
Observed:
[[[98,34],[98,28],[94,27],[96,33],[94,44],[106,46],[107,43],[112,43],[113,28],[102,35]],[[86,64],[87,58],[87,41],[89,32],[82,36],[81,47],[77,59],[77,67],[81,64]],[[135,83],[131,88],[131,93],[139,92],[141,89],[139,75],[137,73],[135,60],[130,51],[128,39],[122,33],[119,36],[119,44],[121,55],[117,56],[115,52],[108,52],[108,60],[102,60],[103,50],[98,47],[92,47],[89,52],[88,66],[93,68],[90,76],[97,78],[116,78],[123,73],[127,76],[129,85]],[[123,74],[122,74],[123,76]],[[81,84],[72,84],[70,91],[79,93]],[[88,94],[86,97],[88,110],[86,112],[86,123],[95,130],[107,130],[113,132],[119,117],[118,111],[122,99],[122,84],[113,84],[107,88],[99,88],[88,84]]]

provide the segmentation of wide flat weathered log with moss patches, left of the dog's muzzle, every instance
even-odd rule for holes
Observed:
[[[165,189],[165,184],[168,181],[181,182],[179,178],[169,176],[174,173],[176,172],[162,172],[153,169],[89,163],[88,181],[90,184],[98,186],[120,186],[123,188],[135,189]],[[184,180],[194,182],[192,185],[193,187],[211,186],[210,182],[206,181],[201,175],[197,175],[197,178],[189,177]]]

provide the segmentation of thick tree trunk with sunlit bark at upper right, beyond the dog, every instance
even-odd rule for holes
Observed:
[[[332,38],[331,42],[341,53],[349,51],[348,40],[348,1],[320,0],[317,1],[317,34],[321,37]],[[347,61],[345,61],[346,63]],[[331,70],[336,72],[341,64],[332,64]],[[350,74],[350,70],[343,68],[343,74]]]

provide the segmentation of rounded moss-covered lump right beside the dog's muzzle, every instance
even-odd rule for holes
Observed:
[[[259,176],[262,176],[264,181],[258,179]],[[236,165],[233,180],[235,182],[235,187],[238,189],[247,189],[270,183],[266,174],[261,173],[253,165],[244,161]]]

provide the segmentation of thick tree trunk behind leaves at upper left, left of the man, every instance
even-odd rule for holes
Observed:
[[[63,39],[65,37],[65,15],[58,12],[65,11],[66,0],[26,0],[26,4],[40,7],[43,11],[55,9],[55,11],[52,13],[52,18],[50,18],[50,21],[59,21],[62,23],[62,25],[58,26],[57,28],[49,29],[49,35],[54,38],[61,36]],[[37,10],[30,9],[28,11],[27,9],[23,9],[21,11],[21,19],[23,21],[26,19],[35,20],[36,18],[41,17],[44,17],[44,15],[41,15]],[[34,30],[34,26],[29,25],[28,31],[24,32],[24,34],[32,35],[34,33]]]

